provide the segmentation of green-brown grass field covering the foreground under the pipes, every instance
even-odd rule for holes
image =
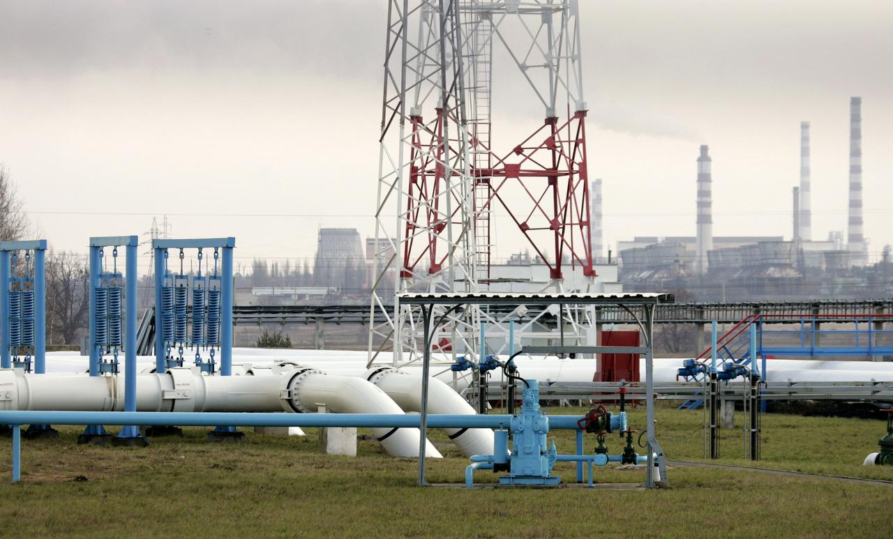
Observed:
[[[579,409],[552,409],[574,413]],[[641,426],[644,413],[634,410]],[[671,459],[702,457],[700,412],[661,407],[658,439]],[[740,418],[739,418],[740,419]],[[885,432],[879,420],[764,416],[765,468],[893,480],[864,468]],[[154,439],[148,448],[79,446],[79,429],[23,441],[22,481],[8,483],[10,440],[0,439],[0,535],[272,536],[794,536],[889,537],[893,488],[752,471],[671,468],[655,491],[419,488],[417,463],[360,442],[356,458],[317,452],[306,437],[255,435],[207,444],[205,429]],[[572,433],[555,432],[559,450]],[[435,431],[431,439],[447,444]],[[724,433],[725,463],[741,460],[741,432]],[[595,440],[587,437],[591,451]],[[619,438],[609,438],[619,452]],[[468,464],[449,445],[429,481],[461,483]],[[559,465],[565,481],[573,465]],[[642,482],[642,469],[597,469],[599,483]],[[480,482],[492,482],[482,471]]]

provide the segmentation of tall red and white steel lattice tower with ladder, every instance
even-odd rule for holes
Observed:
[[[529,86],[524,112],[542,112],[523,137],[493,136],[495,48]],[[388,2],[370,363],[391,343],[398,363],[421,352],[395,291],[488,290],[497,215],[547,264],[547,290],[569,267],[591,282],[585,125],[576,0]],[[482,321],[499,322],[466,310],[435,342],[475,355]]]

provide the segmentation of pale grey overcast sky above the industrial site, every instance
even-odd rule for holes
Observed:
[[[814,239],[844,230],[851,95],[865,236],[872,255],[893,243],[893,2],[580,4],[607,245],[694,236],[701,144],[714,234],[789,237],[801,120]],[[141,234],[165,213],[173,236],[237,236],[242,263],[312,257],[320,225],[371,234],[386,9],[0,0],[0,162],[56,248],[86,252],[88,236]],[[511,69],[495,67],[497,146],[541,122],[532,98],[509,115]],[[523,247],[508,228],[497,242],[500,258]]]

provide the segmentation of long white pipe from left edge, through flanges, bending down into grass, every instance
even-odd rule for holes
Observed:
[[[330,376],[294,365],[258,367],[250,374],[255,376],[209,377],[188,368],[140,373],[137,410],[315,412],[324,405],[342,413],[404,413],[388,394],[363,378]],[[0,410],[121,411],[124,377],[0,369]],[[418,428],[374,428],[372,432],[391,455],[419,456]],[[430,442],[426,455],[441,456]]]

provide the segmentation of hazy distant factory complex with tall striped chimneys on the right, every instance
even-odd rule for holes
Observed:
[[[697,157],[697,236],[637,236],[618,242],[618,278],[624,289],[689,289],[698,299],[710,301],[889,294],[888,281],[877,278],[888,271],[889,255],[870,265],[863,230],[862,99],[850,99],[846,242],[842,232],[833,230],[824,241],[813,239],[810,127],[808,121],[800,123],[800,178],[792,188],[789,240],[713,235],[712,159],[708,146],[702,145]],[[598,204],[600,220],[600,196]],[[593,228],[601,230],[602,223]]]

